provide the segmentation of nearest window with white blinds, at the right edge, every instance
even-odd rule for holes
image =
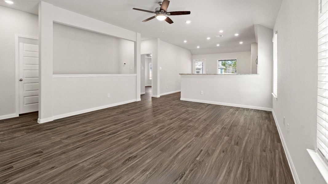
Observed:
[[[321,1],[321,3],[320,3]],[[327,161],[328,158],[328,12],[327,0],[319,0],[318,12],[318,109],[317,109],[317,150]]]

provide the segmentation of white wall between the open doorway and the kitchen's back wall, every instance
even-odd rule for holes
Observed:
[[[166,94],[181,89],[179,73],[191,73],[192,56],[189,50],[160,41],[159,70],[160,94]]]

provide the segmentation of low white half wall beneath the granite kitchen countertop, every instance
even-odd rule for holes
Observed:
[[[262,93],[266,86],[259,85],[260,78],[260,75],[183,75],[181,100],[270,110],[271,99]]]

